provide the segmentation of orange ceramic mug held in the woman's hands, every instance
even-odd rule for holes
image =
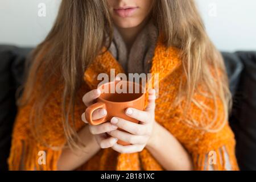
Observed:
[[[113,117],[123,118],[134,123],[139,122],[137,119],[127,116],[125,110],[127,107],[144,109],[145,90],[141,84],[130,81],[113,81],[99,86],[98,89],[101,90],[101,96],[97,98],[96,104],[90,105],[85,111],[86,121],[90,125],[109,122]],[[104,118],[93,120],[92,114],[97,109],[106,109],[107,115]],[[118,140],[117,143],[129,145],[122,140]]]

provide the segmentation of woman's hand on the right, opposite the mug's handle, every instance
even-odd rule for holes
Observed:
[[[134,153],[140,152],[147,146],[153,136],[155,124],[155,90],[151,89],[148,96],[148,106],[145,111],[134,108],[127,108],[126,115],[137,119],[140,123],[133,123],[122,118],[113,117],[112,125],[125,131],[114,130],[108,134],[114,138],[130,143],[129,146],[114,144],[113,150],[119,153]]]

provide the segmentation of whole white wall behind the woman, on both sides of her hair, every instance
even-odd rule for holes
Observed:
[[[38,16],[39,3],[47,7]],[[196,0],[210,38],[222,51],[256,50],[255,0]],[[35,46],[50,30],[60,0],[0,0],[0,44]]]

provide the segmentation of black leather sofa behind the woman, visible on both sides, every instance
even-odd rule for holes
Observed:
[[[24,63],[32,48],[0,46],[0,171],[7,170],[16,114],[15,92],[23,82]],[[223,52],[233,94],[230,125],[242,170],[256,170],[256,52]]]

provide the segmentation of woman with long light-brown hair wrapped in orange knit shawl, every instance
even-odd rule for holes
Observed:
[[[138,124],[86,122],[97,75],[110,69],[159,74],[158,99],[151,89],[146,110],[126,110]],[[10,169],[236,170],[229,107],[224,63],[194,1],[66,0],[32,55]]]

